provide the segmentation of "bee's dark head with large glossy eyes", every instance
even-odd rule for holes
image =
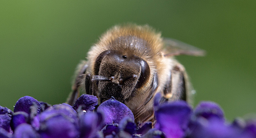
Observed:
[[[100,102],[115,97],[126,104],[133,91],[149,81],[150,67],[142,58],[124,51],[104,51],[96,58],[94,74],[107,78],[98,80]]]

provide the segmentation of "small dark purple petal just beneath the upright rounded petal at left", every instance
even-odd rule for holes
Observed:
[[[12,130],[15,130],[18,125],[23,123],[28,123],[28,113],[23,111],[13,113],[10,123]]]

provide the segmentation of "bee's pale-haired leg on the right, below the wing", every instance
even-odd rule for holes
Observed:
[[[181,64],[177,64],[170,71],[169,82],[164,88],[164,97],[168,101],[184,100],[186,101],[186,72]]]

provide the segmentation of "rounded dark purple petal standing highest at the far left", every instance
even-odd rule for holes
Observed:
[[[30,97],[30,96],[21,97],[16,102],[16,105],[14,107],[14,112],[23,111],[23,112],[28,113],[28,115],[30,115],[30,107],[32,105],[36,106],[37,113],[39,113],[41,107],[40,107],[40,103],[36,99],[34,99],[33,97]]]

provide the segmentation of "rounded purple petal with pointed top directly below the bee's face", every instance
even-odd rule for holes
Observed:
[[[114,97],[104,101],[98,107],[97,112],[104,113],[105,124],[119,123],[124,117],[130,117],[134,121],[132,111]]]

